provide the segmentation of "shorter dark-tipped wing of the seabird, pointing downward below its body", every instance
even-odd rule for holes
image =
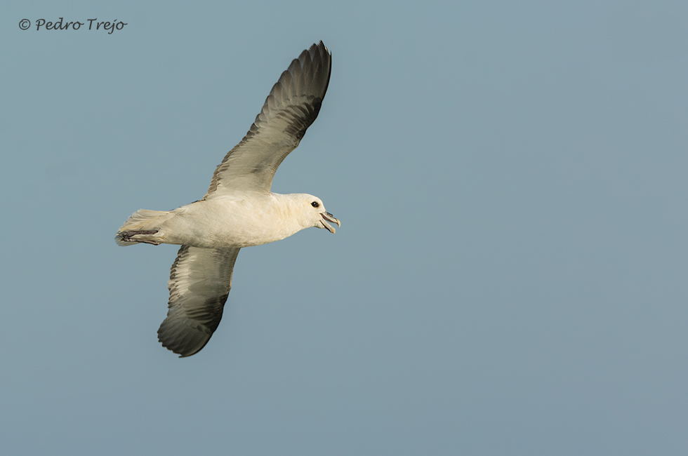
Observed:
[[[238,248],[179,249],[167,283],[167,318],[158,330],[163,347],[181,356],[205,347],[220,324],[237,255]]]

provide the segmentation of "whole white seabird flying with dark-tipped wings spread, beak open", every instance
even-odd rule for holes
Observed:
[[[167,349],[191,356],[208,343],[220,324],[241,248],[309,227],[334,233],[328,222],[341,226],[316,196],[270,192],[279,163],[318,116],[331,68],[322,41],[303,51],[279,76],[249,133],[216,168],[203,199],[175,210],[137,210],[119,228],[120,246],[181,246],[167,285],[167,318],[158,329]]]

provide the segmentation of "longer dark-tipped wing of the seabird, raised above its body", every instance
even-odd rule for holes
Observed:
[[[296,149],[320,112],[331,69],[331,55],[322,41],[291,62],[249,133],[215,170],[204,198],[234,190],[270,192],[279,163]]]

